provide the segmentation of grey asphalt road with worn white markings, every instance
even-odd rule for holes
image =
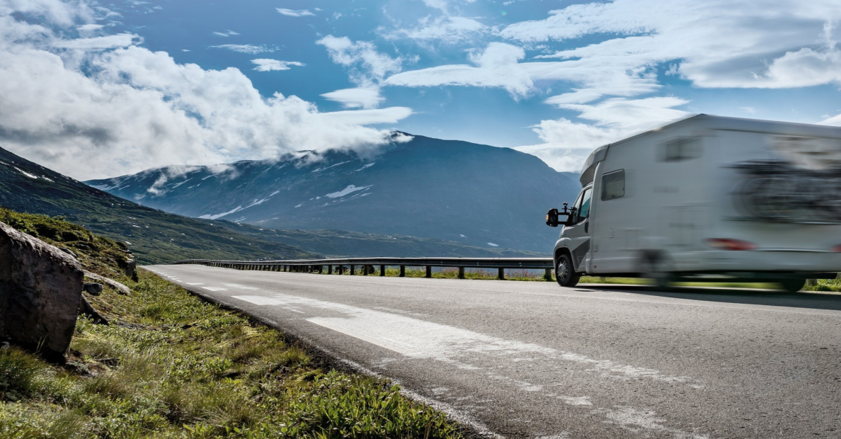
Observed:
[[[490,436],[841,437],[841,295],[146,268]]]

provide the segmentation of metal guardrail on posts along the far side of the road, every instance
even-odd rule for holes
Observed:
[[[379,266],[379,275],[385,276],[385,267],[400,267],[400,278],[405,278],[406,267],[426,267],[426,278],[432,277],[432,267],[457,267],[458,278],[464,278],[465,268],[496,268],[497,278],[505,279],[506,268],[545,270],[544,278],[552,279],[554,261],[551,257],[349,257],[341,259],[296,259],[286,261],[211,261],[187,259],[172,264],[198,264],[209,267],[259,270],[268,272],[324,272],[333,274],[334,267],[340,274],[356,274],[362,267],[362,276],[373,274]]]

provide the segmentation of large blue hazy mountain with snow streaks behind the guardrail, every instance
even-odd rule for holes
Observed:
[[[301,151],[277,161],[162,167],[87,181],[156,209],[266,229],[353,230],[547,254],[546,210],[572,202],[574,174],[510,148],[395,134],[368,155]]]

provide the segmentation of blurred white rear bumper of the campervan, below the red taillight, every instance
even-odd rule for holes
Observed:
[[[712,250],[675,255],[674,262],[680,272],[841,272],[837,251]]]

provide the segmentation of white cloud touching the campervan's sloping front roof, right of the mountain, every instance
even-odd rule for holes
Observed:
[[[685,99],[665,97],[612,98],[594,105],[563,104],[563,108],[577,111],[579,118],[595,124],[563,118],[542,120],[532,129],[544,143],[518,146],[516,150],[538,156],[558,171],[579,172],[581,163],[596,147],[688,117],[689,113],[674,109],[686,103]]]

